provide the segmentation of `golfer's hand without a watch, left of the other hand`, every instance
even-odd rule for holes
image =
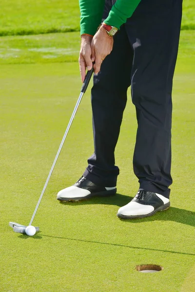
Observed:
[[[92,69],[92,66],[93,66],[92,60],[91,60],[91,54],[92,54],[91,42],[92,42],[92,37],[87,36],[87,35],[81,36],[80,54],[79,54],[78,62],[79,62],[80,76],[81,76],[82,82],[85,79],[86,68],[89,71]]]

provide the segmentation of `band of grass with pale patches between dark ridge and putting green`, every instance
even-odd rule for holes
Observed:
[[[195,30],[181,31],[179,57],[195,55]],[[0,64],[78,61],[79,33],[0,37]],[[190,63],[193,66],[193,63]]]

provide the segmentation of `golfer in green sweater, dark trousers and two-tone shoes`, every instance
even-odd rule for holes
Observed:
[[[95,151],[82,177],[61,190],[58,200],[116,194],[119,169],[114,153],[131,85],[137,113],[133,167],[139,189],[117,216],[152,216],[170,206],[172,84],[182,0],[80,0],[79,4],[82,81],[95,62],[91,91]]]

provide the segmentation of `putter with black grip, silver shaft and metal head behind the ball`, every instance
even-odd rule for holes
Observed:
[[[80,102],[81,102],[81,99],[82,99],[82,97],[83,97],[83,94],[84,94],[85,91],[87,90],[87,87],[88,87],[88,85],[89,85],[89,81],[90,81],[91,76],[92,76],[93,73],[94,73],[94,68],[92,67],[92,69],[91,69],[90,71],[88,71],[87,74],[86,74],[86,76],[85,76],[84,82],[83,82],[82,87],[81,87],[81,90],[80,90],[80,94],[79,94],[79,97],[78,97],[77,104],[76,104],[75,109],[74,109],[74,111],[73,111],[73,113],[72,113],[72,116],[71,116],[70,121],[69,121],[69,123],[68,123],[68,126],[67,126],[67,128],[66,128],[65,134],[64,134],[64,136],[63,136],[63,138],[62,138],[61,144],[60,144],[59,149],[58,149],[58,152],[57,152],[57,154],[56,154],[56,158],[55,158],[55,160],[54,160],[54,163],[52,164],[51,170],[50,170],[50,172],[49,172],[49,175],[48,175],[48,177],[47,177],[47,180],[46,180],[46,182],[45,182],[45,185],[44,185],[44,187],[43,187],[43,189],[42,189],[42,192],[41,192],[41,194],[40,194],[39,201],[38,201],[38,203],[37,203],[37,206],[36,206],[36,208],[35,208],[35,211],[34,211],[34,213],[33,213],[33,216],[32,216],[32,218],[31,218],[31,220],[30,220],[29,225],[32,225],[32,223],[33,223],[33,220],[34,220],[35,215],[36,215],[36,213],[37,213],[37,210],[38,210],[38,208],[39,208],[40,201],[41,201],[42,196],[43,196],[43,194],[44,194],[44,192],[45,192],[45,189],[46,189],[46,187],[47,187],[47,184],[48,184],[48,182],[49,182],[49,179],[50,179],[50,177],[51,177],[51,175],[52,175],[52,172],[53,172],[53,170],[54,170],[54,167],[55,167],[55,165],[56,165],[56,162],[57,162],[57,160],[58,160],[58,158],[59,158],[59,153],[60,153],[61,148],[62,148],[62,146],[63,146],[63,144],[64,144],[64,141],[65,141],[65,139],[66,139],[66,136],[67,136],[67,134],[68,134],[68,131],[69,131],[71,125],[72,125],[72,122],[73,122],[73,120],[74,120],[74,118],[75,118],[75,115],[76,115],[76,112],[77,112],[77,110],[78,110],[78,106],[79,106],[79,104],[80,104]],[[13,228],[14,232],[17,232],[17,233],[25,233],[25,230],[26,230],[26,227],[27,227],[27,226],[25,226],[25,225],[21,225],[21,224],[16,223],[16,222],[9,222],[9,226],[11,226],[11,227]],[[35,228],[36,228],[36,231],[38,232],[38,231],[39,231],[39,227],[35,227]]]

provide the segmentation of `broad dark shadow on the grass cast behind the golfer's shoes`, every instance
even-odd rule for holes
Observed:
[[[126,205],[133,198],[117,194],[112,197],[106,198],[91,198],[90,200],[78,201],[78,202],[60,202],[62,205],[88,205],[88,204],[104,204],[104,205],[117,205],[118,207]],[[179,209],[176,207],[170,207],[167,211],[157,212],[151,217],[146,217],[142,219],[120,219],[127,224],[148,222],[148,221],[175,221],[185,225],[195,226],[195,212],[188,211],[185,209]]]

